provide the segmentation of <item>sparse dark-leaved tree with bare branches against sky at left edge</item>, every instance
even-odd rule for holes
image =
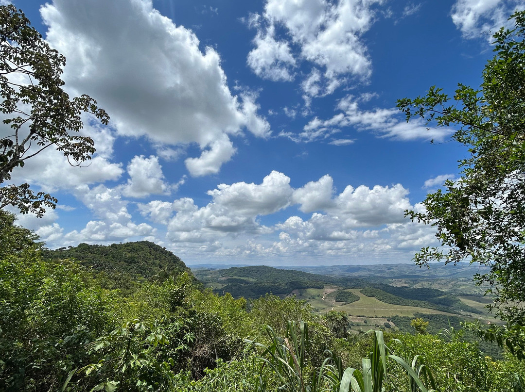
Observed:
[[[106,125],[109,116],[88,95],[69,99],[61,88],[65,64],[65,57],[49,47],[22,10],[0,6],[0,111],[10,128],[0,138],[0,184],[11,179],[16,167],[51,146],[73,166],[95,153],[90,137],[75,134],[83,126],[80,115],[91,113]],[[0,188],[0,209],[12,205],[23,214],[41,216],[56,202],[45,192],[35,194],[27,183]]]

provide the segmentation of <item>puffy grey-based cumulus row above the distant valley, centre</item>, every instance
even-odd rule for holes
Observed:
[[[262,235],[299,228],[303,233],[310,232],[305,236],[327,241],[349,239],[358,227],[403,222],[404,210],[411,207],[406,197],[408,191],[400,184],[372,189],[348,186],[338,195],[334,196],[334,192],[329,175],[294,190],[289,177],[272,171],[260,184],[219,184],[207,192],[212,201],[203,207],[191,198],[182,198],[173,203],[140,204],[139,209],[151,221],[167,225],[170,241],[208,242],[227,235]],[[313,212],[312,219],[301,223],[299,217],[290,217],[274,228],[261,225],[257,220],[259,216],[274,214],[293,204],[298,204],[302,212]],[[298,226],[294,229],[293,224]]]

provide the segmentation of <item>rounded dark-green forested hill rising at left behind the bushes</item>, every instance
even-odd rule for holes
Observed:
[[[97,271],[119,271],[144,278],[158,275],[160,271],[168,274],[186,271],[191,274],[190,268],[180,258],[149,241],[111,245],[82,243],[75,247],[47,250],[43,256],[47,259],[72,258]]]

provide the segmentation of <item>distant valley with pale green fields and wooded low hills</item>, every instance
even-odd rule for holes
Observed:
[[[429,321],[436,332],[449,322],[459,326],[460,321],[499,321],[487,309],[492,300],[484,296],[485,288],[472,281],[474,274],[483,272],[478,266],[221,267],[192,266],[192,271],[219,295],[230,292],[249,300],[272,293],[295,296],[320,314],[344,311],[353,333],[370,328],[413,332],[409,321],[415,317]]]

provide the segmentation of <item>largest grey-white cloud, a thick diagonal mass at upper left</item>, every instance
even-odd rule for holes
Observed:
[[[198,176],[232,157],[230,135],[268,134],[251,97],[230,92],[218,53],[202,52],[197,36],[151,1],[55,0],[40,12],[47,41],[68,60],[67,88],[95,97],[119,135],[196,143],[203,153],[188,170]]]

